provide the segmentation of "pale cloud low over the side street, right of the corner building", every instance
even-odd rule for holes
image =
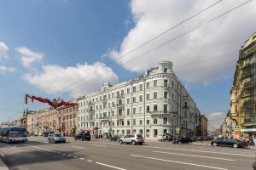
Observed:
[[[222,122],[224,122],[224,118],[226,114],[227,113],[224,113],[224,112],[213,112],[206,115],[208,119],[208,128],[210,130],[215,130],[220,128],[220,125],[222,124]]]

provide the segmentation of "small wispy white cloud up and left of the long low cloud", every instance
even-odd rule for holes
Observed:
[[[44,58],[44,54],[33,52],[31,49],[26,47],[15,48],[17,52],[21,54],[22,65],[28,67],[35,61],[40,61]]]

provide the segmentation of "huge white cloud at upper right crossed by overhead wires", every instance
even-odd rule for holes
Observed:
[[[216,1],[132,0],[131,13],[135,27],[124,37],[120,47],[109,53],[110,57],[118,59],[143,44],[143,42],[147,42],[152,37],[175,26],[180,21],[189,18],[189,16],[196,14],[214,2]],[[218,3],[207,12],[189,20],[189,22],[148,43],[143,48],[126,55],[117,62],[119,65],[123,65],[126,70],[143,72],[157,65],[160,60],[171,60],[178,77],[186,82],[203,82],[205,85],[224,74],[233,74],[241,45],[253,31],[256,31],[255,20],[252,20],[256,15],[256,10],[253,10],[253,7],[256,6],[255,1],[176,41],[168,43],[164,47],[154,50],[150,54],[125,63],[163,42],[189,31],[200,23],[223,14],[240,3],[244,3],[244,1]],[[218,59],[209,59],[215,56],[219,56]],[[195,63],[195,61],[203,62]],[[178,66],[189,63],[193,64]]]

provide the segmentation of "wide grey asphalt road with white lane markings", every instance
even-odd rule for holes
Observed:
[[[118,144],[103,140],[48,144],[30,137],[26,144],[0,144],[1,159],[12,170],[251,170],[256,150],[213,147],[207,142]]]

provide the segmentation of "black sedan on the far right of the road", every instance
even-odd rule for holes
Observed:
[[[233,148],[246,148],[248,146],[246,141],[238,139],[213,139],[212,146],[232,146]]]

